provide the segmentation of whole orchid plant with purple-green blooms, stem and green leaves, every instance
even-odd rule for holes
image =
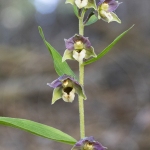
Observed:
[[[39,27],[39,33],[52,56],[55,71],[59,76],[51,83],[47,83],[48,86],[54,88],[52,104],[59,99],[72,103],[75,94],[78,95],[80,118],[79,141],[56,128],[30,120],[0,117],[0,124],[19,128],[57,142],[70,144],[72,145],[72,150],[105,150],[107,148],[98,141],[95,141],[93,136],[86,137],[85,135],[84,100],[87,98],[84,91],[84,67],[99,60],[108,53],[133,26],[120,34],[110,45],[96,55],[89,38],[84,37],[84,28],[98,20],[103,20],[107,23],[113,21],[121,23],[121,20],[114,13],[121,2],[115,0],[66,0],[67,3],[73,6],[74,13],[79,20],[79,33],[65,39],[66,50],[63,57],[46,41],[41,27]],[[85,14],[87,14],[86,19]],[[68,59],[77,61],[79,64],[79,78],[67,64],[66,60]]]

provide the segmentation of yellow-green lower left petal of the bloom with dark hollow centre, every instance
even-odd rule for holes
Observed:
[[[55,88],[53,91],[52,104],[62,97],[62,87]]]

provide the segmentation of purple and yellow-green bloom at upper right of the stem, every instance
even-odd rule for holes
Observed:
[[[98,3],[98,18],[103,19],[106,22],[116,21],[121,23],[118,16],[113,13],[121,3],[115,0],[100,0]]]

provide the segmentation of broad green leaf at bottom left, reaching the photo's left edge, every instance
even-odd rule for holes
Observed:
[[[51,139],[57,142],[74,145],[76,140],[70,135],[49,127],[44,124],[40,124],[37,122],[33,122],[30,120],[19,119],[19,118],[9,118],[9,117],[0,117],[0,124],[4,126],[10,126],[14,128],[18,128],[21,130],[25,130],[32,134]]]

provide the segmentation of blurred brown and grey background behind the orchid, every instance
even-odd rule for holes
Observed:
[[[110,150],[150,150],[150,1],[124,0],[116,10],[122,24],[102,20],[85,28],[96,53],[135,24],[98,62],[85,68],[86,136]],[[64,38],[78,33],[65,0],[0,1],[0,116],[24,118],[58,128],[77,140],[78,102],[51,105],[47,82],[58,76],[38,33],[61,55]],[[68,61],[78,73],[77,62]],[[69,150],[24,131],[0,126],[0,150]]]

